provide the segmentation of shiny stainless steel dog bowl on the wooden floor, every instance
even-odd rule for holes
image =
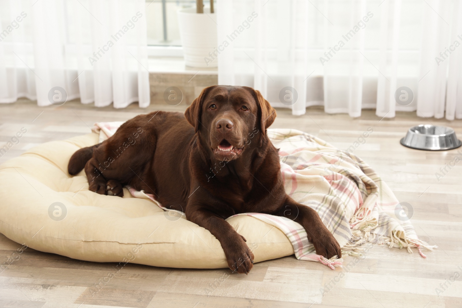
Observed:
[[[462,142],[450,127],[422,124],[409,128],[401,145],[417,150],[444,151],[456,149]]]

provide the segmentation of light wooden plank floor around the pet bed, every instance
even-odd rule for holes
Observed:
[[[184,111],[185,106],[156,104],[138,109],[132,104],[117,110],[79,102],[46,108],[25,100],[1,104],[0,146],[21,127],[27,133],[0,157],[0,163],[36,144],[88,133],[96,121],[124,121],[156,109]],[[210,297],[200,294],[229,270],[128,264],[92,297],[90,288],[114,272],[114,264],[72,260],[28,248],[0,274],[0,307],[462,307],[462,162],[440,181],[435,176],[445,163],[462,154],[417,151],[399,144],[408,127],[430,122],[450,125],[462,138],[462,121],[428,120],[413,113],[379,120],[371,110],[352,119],[326,115],[319,108],[294,118],[289,110],[280,109],[272,127],[297,128],[341,149],[372,127],[374,132],[354,153],[382,175],[398,199],[412,205],[417,234],[439,246],[427,253],[427,259],[416,252],[374,247],[350,270],[332,271],[289,256],[257,263],[247,276],[231,274]],[[18,248],[19,244],[0,234],[0,265]],[[354,260],[346,257],[345,264]],[[461,277],[449,284],[447,280],[456,272]],[[329,283],[330,291],[324,296],[319,293],[312,303],[308,293]],[[446,290],[440,286],[444,283]],[[444,292],[438,296],[436,288]]]

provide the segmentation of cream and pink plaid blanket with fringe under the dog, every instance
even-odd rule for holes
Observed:
[[[100,141],[112,136],[122,122],[96,123]],[[268,137],[280,148],[281,173],[286,193],[318,212],[342,248],[343,255],[361,255],[365,242],[386,244],[389,248],[432,250],[420,241],[412,223],[404,215],[393,192],[362,159],[329,145],[322,139],[295,129],[268,129]],[[127,187],[137,198],[148,198],[165,211],[153,197]],[[177,211],[180,215],[184,213]],[[321,262],[334,269],[342,259],[317,255],[305,229],[285,217],[243,213],[271,224],[286,234],[298,260]],[[231,217],[230,217],[231,218]],[[229,218],[228,218],[229,219]]]

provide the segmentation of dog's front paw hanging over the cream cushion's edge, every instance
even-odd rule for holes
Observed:
[[[228,266],[233,272],[247,274],[252,269],[254,254],[250,251],[244,240],[240,238],[228,245],[225,250]]]

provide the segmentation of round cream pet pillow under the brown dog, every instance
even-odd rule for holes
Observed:
[[[39,145],[0,166],[0,232],[43,252],[96,262],[133,262],[178,268],[226,268],[219,241],[195,223],[149,199],[88,190],[85,172],[67,163],[96,134]],[[294,253],[282,231],[250,216],[228,222],[247,239],[255,262]]]

